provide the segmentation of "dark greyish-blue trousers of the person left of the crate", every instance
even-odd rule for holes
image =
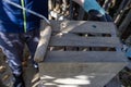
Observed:
[[[26,44],[33,60],[39,40],[39,30],[34,29],[23,34],[12,34],[0,32],[0,48],[7,55],[8,63],[15,75],[22,74],[23,49]]]

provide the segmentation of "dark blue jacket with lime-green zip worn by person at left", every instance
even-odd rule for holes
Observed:
[[[21,0],[11,0],[21,5]],[[48,17],[48,0],[24,0],[25,8]],[[27,32],[39,27],[39,17],[26,12]],[[0,0],[0,32],[24,33],[22,10]]]

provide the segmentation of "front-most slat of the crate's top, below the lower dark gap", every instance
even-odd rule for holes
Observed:
[[[123,62],[122,52],[109,51],[48,51],[45,62]]]

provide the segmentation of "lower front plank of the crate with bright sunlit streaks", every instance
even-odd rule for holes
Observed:
[[[59,76],[61,75],[61,76]],[[43,79],[43,85],[40,87],[104,87],[116,74],[81,74],[79,75],[69,75],[59,74],[59,75],[43,75],[53,78]],[[67,77],[66,77],[67,76]],[[85,77],[81,78],[81,76]],[[80,77],[80,78],[79,78]]]

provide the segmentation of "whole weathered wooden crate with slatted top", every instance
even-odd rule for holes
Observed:
[[[124,66],[114,23],[52,21],[44,62],[43,87],[104,87]]]

